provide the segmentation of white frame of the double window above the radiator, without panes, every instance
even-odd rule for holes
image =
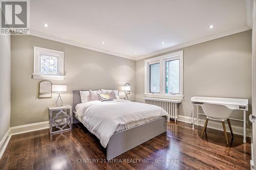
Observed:
[[[180,59],[180,81],[179,81],[179,94],[166,94],[166,84],[165,84],[165,78],[166,78],[166,61],[171,61],[175,59]],[[150,93],[150,64],[153,63],[160,63],[160,92],[159,93]],[[144,61],[144,67],[145,67],[145,75],[144,75],[144,96],[150,97],[150,98],[162,98],[162,99],[176,99],[176,100],[182,100],[183,95],[183,50],[177,51],[174,53],[165,54],[162,56],[150,58]]]

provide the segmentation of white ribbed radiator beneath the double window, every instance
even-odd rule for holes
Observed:
[[[157,98],[144,98],[146,104],[156,105],[163,108],[170,116],[170,118],[178,118],[178,103],[174,100],[157,99]]]

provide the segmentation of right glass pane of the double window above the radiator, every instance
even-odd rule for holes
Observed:
[[[180,59],[165,62],[165,92],[180,93]]]

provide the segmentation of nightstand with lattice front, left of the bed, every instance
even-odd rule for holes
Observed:
[[[73,113],[70,105],[49,106],[50,134],[72,129]]]

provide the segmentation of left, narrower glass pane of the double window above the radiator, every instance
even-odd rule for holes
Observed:
[[[160,92],[159,69],[160,69],[159,63],[150,64],[150,92],[151,93]]]

